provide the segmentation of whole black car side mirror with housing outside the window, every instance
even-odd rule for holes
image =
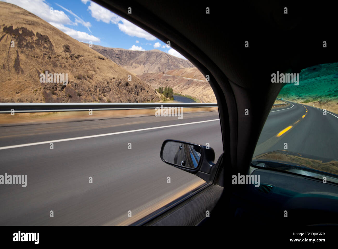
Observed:
[[[204,181],[212,181],[210,178],[215,165],[215,152],[212,148],[168,139],[162,144],[160,156],[167,164],[196,174]]]

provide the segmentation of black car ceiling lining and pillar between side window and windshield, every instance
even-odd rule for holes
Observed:
[[[225,162],[236,172],[247,172],[260,132],[282,88],[281,83],[271,83],[271,74],[298,73],[312,65],[337,61],[332,3],[95,2],[163,42],[170,41],[172,48],[204,75],[210,75],[220,110]],[[206,7],[210,14],[206,14]],[[284,14],[284,7],[288,14]],[[249,47],[244,47],[245,41]]]

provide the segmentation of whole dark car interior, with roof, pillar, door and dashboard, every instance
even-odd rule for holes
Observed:
[[[207,183],[132,225],[338,225],[337,183],[323,184],[320,179],[277,167],[251,164],[271,106],[283,87],[271,83],[271,74],[299,73],[303,68],[337,60],[333,27],[337,22],[330,4],[95,2],[162,41],[170,41],[171,47],[209,76],[219,109],[221,157],[213,158],[213,151],[201,146],[197,167],[175,166]],[[162,150],[156,152],[161,158]],[[232,184],[232,175],[246,175],[250,170],[260,175],[259,187]],[[208,211],[210,215],[206,215]]]

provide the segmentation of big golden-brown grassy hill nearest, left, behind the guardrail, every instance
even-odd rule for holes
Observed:
[[[11,43],[14,41],[14,47]],[[156,91],[32,13],[0,2],[0,102],[146,102]],[[68,85],[40,74],[68,74]]]

